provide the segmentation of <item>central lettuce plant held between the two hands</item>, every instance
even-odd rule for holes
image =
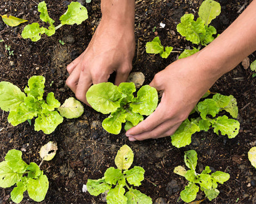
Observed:
[[[88,103],[98,112],[109,114],[102,122],[103,128],[118,134],[125,123],[125,130],[143,121],[142,115],[150,115],[157,107],[158,95],[155,88],[142,86],[136,91],[134,83],[124,82],[115,86],[110,82],[94,84],[86,93]]]

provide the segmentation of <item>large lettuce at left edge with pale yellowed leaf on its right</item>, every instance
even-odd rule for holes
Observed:
[[[63,117],[55,111],[71,111],[68,118],[79,117],[83,114],[84,108],[77,101],[75,105],[61,106],[55,99],[53,92],[47,94],[46,101],[43,99],[45,78],[43,76],[33,76],[28,80],[28,87],[22,92],[17,86],[10,82],[0,82],[0,108],[9,111],[8,122],[16,126],[27,120],[35,119],[35,130],[42,130],[45,134],[52,133],[57,126],[62,123]],[[71,100],[75,100],[74,98]],[[77,114],[78,112],[78,114]],[[66,117],[65,114],[63,116]]]

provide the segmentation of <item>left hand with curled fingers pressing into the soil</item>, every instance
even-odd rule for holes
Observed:
[[[78,100],[86,101],[91,84],[107,82],[116,72],[115,84],[126,81],[132,70],[135,40],[133,27],[102,18],[85,51],[67,66],[66,83]]]

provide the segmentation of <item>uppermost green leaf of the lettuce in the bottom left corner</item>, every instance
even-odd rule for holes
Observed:
[[[27,164],[21,158],[22,152],[16,149],[11,149],[4,157],[5,161],[12,169],[13,172],[24,173],[27,168]]]

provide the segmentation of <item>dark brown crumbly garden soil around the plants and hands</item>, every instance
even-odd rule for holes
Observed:
[[[51,18],[58,24],[59,16],[66,9],[69,1],[47,1]],[[66,66],[83,52],[89,44],[95,28],[101,18],[100,1],[85,3],[89,19],[81,25],[65,25],[51,37],[42,36],[38,42],[22,39],[21,32],[27,23],[18,27],[8,27],[0,21],[0,81],[9,81],[25,88],[28,79],[33,75],[46,78],[45,94],[54,92],[55,97],[63,103],[66,98],[74,97],[73,92],[65,85],[68,77]],[[177,59],[177,53],[162,59],[159,55],[145,52],[147,41],[156,35],[164,46],[172,46],[181,51],[193,45],[179,35],[176,25],[180,17],[187,13],[197,15],[202,0],[138,0],[135,1],[135,52],[133,71],[145,74],[145,84],[154,75]],[[250,3],[249,0],[219,0],[222,5],[220,16],[212,22],[217,32],[221,33]],[[18,1],[2,0],[0,13],[10,14],[27,19],[28,23],[39,22],[37,4],[39,0]],[[165,23],[161,28],[159,23]],[[110,28],[111,29],[111,28]],[[59,40],[65,42],[64,45]],[[13,55],[5,50],[11,46]],[[225,47],[223,47],[225,49]],[[251,62],[256,53],[249,56]],[[52,134],[34,131],[28,122],[12,126],[7,122],[8,113],[0,110],[0,161],[10,149],[23,151],[22,158],[26,163],[39,164],[39,149],[49,141],[58,143],[57,155],[53,160],[44,162],[41,169],[49,179],[49,190],[41,203],[106,203],[101,196],[93,197],[82,192],[87,179],[99,179],[110,166],[115,166],[117,150],[124,144],[134,151],[133,165],[145,169],[145,180],[138,190],[150,196],[154,203],[184,203],[180,191],[187,185],[185,178],[173,173],[175,166],[184,165],[184,151],[195,149],[198,154],[198,172],[205,166],[216,171],[230,174],[230,179],[218,186],[219,196],[202,203],[256,203],[256,169],[247,159],[247,152],[255,146],[256,139],[256,77],[253,72],[245,70],[239,64],[233,71],[223,75],[211,88],[212,92],[233,95],[239,108],[238,121],[241,123],[239,134],[234,139],[217,135],[212,130],[193,135],[192,143],[183,148],[175,148],[170,137],[157,140],[130,142],[122,131],[118,135],[107,133],[101,127],[106,117],[85,106],[84,114],[74,120],[65,119]],[[0,189],[0,203],[12,203],[12,188]],[[199,193],[196,200],[204,198]],[[35,203],[24,193],[21,203]],[[199,202],[198,202],[199,203]]]

